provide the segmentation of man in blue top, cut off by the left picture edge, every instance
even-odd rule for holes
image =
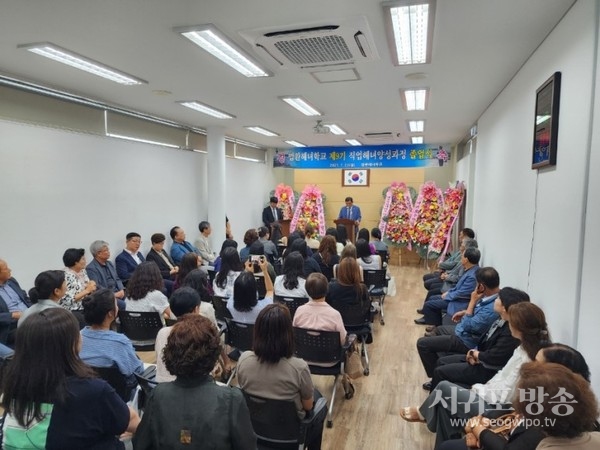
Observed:
[[[27,293],[12,277],[8,264],[0,259],[0,342],[10,344],[21,313],[31,306]]]

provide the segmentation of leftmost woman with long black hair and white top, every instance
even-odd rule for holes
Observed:
[[[125,299],[127,311],[151,312],[160,314],[161,320],[171,317],[169,301],[162,293],[162,277],[158,266],[152,261],[145,261],[133,272],[127,285]]]

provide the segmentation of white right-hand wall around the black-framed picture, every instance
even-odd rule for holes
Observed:
[[[596,323],[600,315],[597,298],[580,295],[580,287],[597,290],[591,277],[581,284],[582,262],[595,262],[583,260],[583,249],[594,257],[600,251],[589,231],[594,224],[598,229],[597,206],[590,211],[588,233],[582,233],[584,200],[598,192],[598,171],[587,182],[589,118],[598,102],[593,89],[597,4],[577,2],[480,118],[471,193],[485,263],[499,270],[503,285],[529,292],[544,309],[555,341],[573,345],[579,340],[597,368],[600,392],[600,358],[584,344],[596,330],[584,330],[579,315],[580,306],[594,314]],[[535,91],[555,71],[562,73],[557,165],[531,170]]]

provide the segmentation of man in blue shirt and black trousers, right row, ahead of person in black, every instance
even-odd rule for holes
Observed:
[[[477,269],[475,279],[477,287],[471,293],[467,309],[452,317],[458,324],[436,327],[432,336],[417,340],[417,350],[428,377],[433,376],[438,354],[465,355],[477,347],[482,336],[498,319],[496,298],[499,292],[507,293],[500,291],[500,275],[493,267],[482,267]],[[507,295],[510,296],[510,291]],[[500,301],[498,303],[501,304]]]

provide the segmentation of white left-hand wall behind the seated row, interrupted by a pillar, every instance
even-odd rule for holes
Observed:
[[[112,258],[125,234],[150,236],[179,225],[188,240],[207,217],[206,155],[62,130],[0,121],[0,258],[29,289],[41,271],[61,268],[69,247],[96,239],[111,244]],[[226,162],[227,214],[238,241],[260,222],[273,188],[267,165]],[[243,186],[253,189],[241,189]],[[216,250],[224,223],[213,226]]]

